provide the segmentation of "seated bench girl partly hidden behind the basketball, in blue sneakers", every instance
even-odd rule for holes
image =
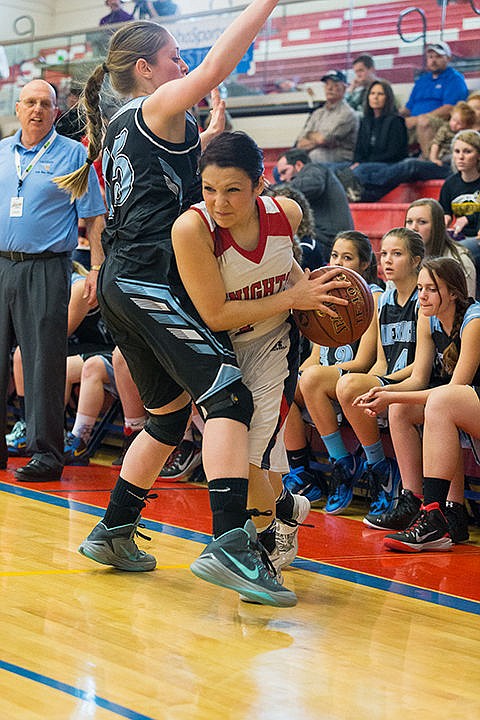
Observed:
[[[369,239],[356,230],[340,232],[335,238],[330,265],[339,265],[360,273],[373,292],[375,307],[382,290],[378,286],[377,263]],[[367,372],[377,352],[378,322],[376,313],[368,330],[351,345],[327,348],[314,345],[301,366],[285,428],[285,446],[290,472],[283,483],[292,493],[305,495],[310,502],[318,501],[325,489],[325,479],[317,472],[307,443],[302,411],[308,413],[322,437],[338,430],[336,387],[347,372]]]

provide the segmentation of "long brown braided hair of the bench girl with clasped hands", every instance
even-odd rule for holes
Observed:
[[[459,262],[453,258],[428,258],[420,265],[426,270],[437,292],[438,279],[443,280],[447,290],[455,296],[455,317],[450,337],[450,345],[442,353],[442,374],[451,376],[458,361],[458,337],[467,308],[474,302],[468,297],[467,279]]]

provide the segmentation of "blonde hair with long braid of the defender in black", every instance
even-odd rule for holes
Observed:
[[[88,187],[90,165],[102,149],[104,120],[100,110],[100,90],[108,73],[114,90],[128,97],[135,90],[134,69],[137,60],[154,64],[158,51],[168,42],[170,33],[161,25],[148,20],[125,23],[110,39],[105,62],[97,65],[85,84],[83,98],[87,115],[87,161],[75,172],[54,178],[58,187],[72,199],[82,197]]]

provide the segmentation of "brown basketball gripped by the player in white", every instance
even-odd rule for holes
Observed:
[[[335,265],[328,265],[314,270],[312,279],[323,275]],[[319,310],[294,310],[295,322],[302,333],[317,345],[326,347],[340,347],[349,345],[358,340],[370,325],[373,317],[374,303],[372,291],[365,280],[354,270],[338,266],[337,280],[349,280],[346,288],[332,290],[331,294],[345,298],[348,305],[334,305],[331,307],[337,317],[330,317]]]

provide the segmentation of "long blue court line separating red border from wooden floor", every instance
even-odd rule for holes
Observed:
[[[78,512],[84,512],[88,515],[95,515],[97,517],[103,517],[105,513],[104,509],[95,507],[94,505],[88,505],[87,503],[81,503],[77,500],[69,500],[68,498],[57,497],[55,495],[48,495],[47,493],[42,493],[38,490],[31,490],[26,487],[20,487],[18,485],[8,485],[7,483],[0,482],[0,492],[1,491],[12,495],[20,495],[22,497],[29,498],[30,500],[37,500],[49,505],[55,505],[69,510],[77,510]],[[187,528],[175,527],[174,525],[161,523],[157,520],[147,520],[142,518],[142,525],[149,530],[155,530],[156,532],[164,533],[165,535],[172,535],[173,537],[182,538],[183,540],[191,540],[193,542],[202,543],[203,545],[206,545],[211,540],[211,536],[206,533],[197,532],[196,530],[188,530]],[[364,587],[383,590],[396,595],[403,595],[404,597],[409,597],[414,600],[423,600],[424,602],[430,602],[434,605],[441,605],[442,607],[449,607],[453,610],[461,610],[473,615],[480,615],[480,602],[477,602],[476,600],[468,600],[466,598],[457,597],[456,595],[448,595],[447,593],[441,593],[436,590],[428,590],[427,588],[396,582],[395,580],[389,580],[388,578],[368,575],[356,570],[342,568],[338,565],[322,563],[318,560],[297,558],[292,563],[292,567],[317,573],[318,575],[336,578],[337,580],[346,580],[347,582],[354,583],[355,585],[363,585]]]

